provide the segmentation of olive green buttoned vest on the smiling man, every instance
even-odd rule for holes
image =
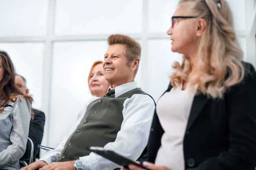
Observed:
[[[59,162],[79,159],[90,154],[86,148],[105,146],[115,141],[123,122],[123,104],[134,94],[144,94],[140,88],[128,91],[119,97],[105,96],[91,102],[76,130],[67,139]]]

